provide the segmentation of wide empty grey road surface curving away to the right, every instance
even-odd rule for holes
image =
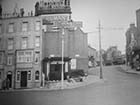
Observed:
[[[95,71],[91,71],[95,72]],[[104,83],[56,91],[0,93],[0,105],[139,105],[140,75],[103,67]]]

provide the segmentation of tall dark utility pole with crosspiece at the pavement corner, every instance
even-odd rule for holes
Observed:
[[[103,71],[102,71],[102,48],[101,48],[101,24],[99,20],[99,53],[100,53],[100,79],[103,79]]]

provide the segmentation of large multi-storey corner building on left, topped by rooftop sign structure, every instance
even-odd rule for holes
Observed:
[[[35,16],[22,12],[0,19],[0,80],[8,78],[10,88],[39,87],[43,74],[46,80],[53,80],[62,64],[64,73],[88,69],[87,34],[81,22],[71,20],[69,0],[57,2],[59,6],[37,2]]]

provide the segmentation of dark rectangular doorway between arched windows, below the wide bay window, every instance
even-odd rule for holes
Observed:
[[[22,71],[21,72],[21,82],[20,86],[22,88],[27,87],[27,71]]]

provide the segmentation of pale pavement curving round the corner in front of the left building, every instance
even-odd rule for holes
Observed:
[[[0,90],[0,92],[14,92],[14,91],[52,91],[52,90],[61,90],[61,89],[74,89],[92,83],[101,83],[104,82],[103,79],[100,79],[97,75],[89,74],[87,77],[83,77],[82,82],[76,82],[74,79],[72,82],[64,81],[63,88],[61,87],[61,81],[52,81],[48,85],[40,88],[31,88],[31,89],[9,89],[9,90]]]

